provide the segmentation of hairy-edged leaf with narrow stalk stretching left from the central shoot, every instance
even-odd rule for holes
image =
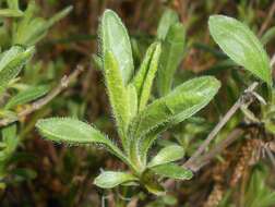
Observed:
[[[93,126],[72,118],[43,119],[36,123],[43,136],[53,142],[67,144],[103,144],[107,149],[128,163],[121,150]]]

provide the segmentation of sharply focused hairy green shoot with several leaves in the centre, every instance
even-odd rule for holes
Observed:
[[[175,27],[182,33],[180,25]],[[174,36],[172,32],[170,35]],[[121,147],[92,125],[71,118],[39,120],[37,129],[55,142],[105,146],[125,162],[131,172],[104,171],[95,179],[94,183],[104,188],[140,183],[151,193],[159,194],[164,192],[157,182],[159,178],[191,179],[192,172],[175,162],[184,156],[183,148],[174,144],[160,149],[153,158],[148,158],[150,150],[164,131],[204,108],[217,93],[219,82],[212,76],[198,77],[171,92],[168,84],[168,90],[162,93],[165,96],[150,101],[153,81],[162,61],[162,44],[156,41],[150,46],[135,71],[127,29],[110,10],[105,11],[101,17],[99,39],[107,93]]]

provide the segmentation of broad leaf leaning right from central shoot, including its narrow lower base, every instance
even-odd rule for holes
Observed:
[[[190,80],[167,96],[148,105],[130,126],[131,159],[145,163],[146,153],[157,134],[190,118],[216,95],[220,83],[212,76]],[[144,137],[144,138],[143,138]]]

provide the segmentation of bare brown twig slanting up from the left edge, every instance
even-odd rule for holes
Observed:
[[[36,101],[34,101],[29,108],[21,111],[20,113],[17,113],[17,115],[15,118],[7,118],[7,119],[2,119],[0,120],[0,127],[1,126],[5,126],[9,125],[13,122],[16,122],[25,117],[27,117],[28,114],[33,113],[34,111],[39,110],[40,108],[43,108],[45,105],[49,104],[55,97],[57,97],[62,90],[64,90],[65,88],[69,87],[69,85],[84,71],[83,66],[77,65],[76,70],[71,73],[69,76],[64,75],[61,81],[60,84],[53,88],[48,95],[46,95],[44,98],[38,99]]]

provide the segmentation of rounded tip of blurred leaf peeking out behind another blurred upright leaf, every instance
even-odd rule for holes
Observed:
[[[170,26],[177,22],[179,22],[178,14],[174,10],[166,9],[157,27],[157,38],[164,40]]]

